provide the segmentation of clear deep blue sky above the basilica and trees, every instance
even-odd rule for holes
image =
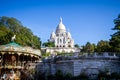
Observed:
[[[0,17],[18,19],[42,42],[56,30],[60,17],[75,44],[109,40],[118,14],[120,0],[0,0]]]

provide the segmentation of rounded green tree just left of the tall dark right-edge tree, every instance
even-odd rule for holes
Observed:
[[[97,52],[109,52],[110,51],[109,41],[99,41],[97,43]]]

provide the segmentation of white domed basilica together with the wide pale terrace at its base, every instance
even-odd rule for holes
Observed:
[[[55,47],[42,48],[46,52],[56,53],[56,52],[76,52],[77,48],[74,47],[74,40],[69,31],[66,30],[60,18],[60,23],[57,25],[56,31],[52,32],[49,42],[53,42]]]

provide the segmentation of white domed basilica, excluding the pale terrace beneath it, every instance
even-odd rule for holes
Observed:
[[[56,32],[52,32],[50,36],[50,42],[55,43],[55,47],[74,47],[74,40],[71,37],[70,32],[66,31],[62,18],[57,26]]]

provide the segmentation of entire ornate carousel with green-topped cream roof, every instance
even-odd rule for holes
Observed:
[[[40,61],[41,52],[31,47],[22,47],[12,40],[6,45],[0,45],[0,76],[17,74],[24,69],[34,69]]]

